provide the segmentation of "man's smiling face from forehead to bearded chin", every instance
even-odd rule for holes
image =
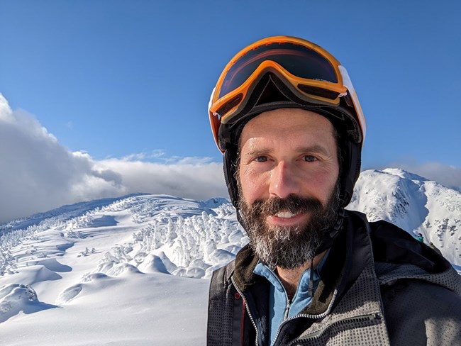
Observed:
[[[256,116],[240,135],[240,213],[270,267],[313,258],[337,218],[339,164],[333,125],[299,108]]]

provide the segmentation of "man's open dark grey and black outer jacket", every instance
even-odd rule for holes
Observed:
[[[213,274],[208,345],[268,345],[269,283],[257,262],[244,247]],[[461,276],[395,225],[347,211],[320,274],[274,345],[461,345]]]

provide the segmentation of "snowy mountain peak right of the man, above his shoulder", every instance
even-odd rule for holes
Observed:
[[[461,193],[401,169],[362,172],[348,209],[370,221],[387,220],[422,233],[452,264],[461,266]]]

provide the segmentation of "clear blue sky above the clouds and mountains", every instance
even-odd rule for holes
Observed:
[[[348,69],[363,169],[461,180],[460,14],[455,0],[0,0],[0,93],[94,161],[221,162],[206,112],[221,70],[255,40],[294,35]]]

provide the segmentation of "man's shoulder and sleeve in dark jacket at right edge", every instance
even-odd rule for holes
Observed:
[[[458,345],[460,275],[396,225],[377,221],[367,228],[391,345]]]

